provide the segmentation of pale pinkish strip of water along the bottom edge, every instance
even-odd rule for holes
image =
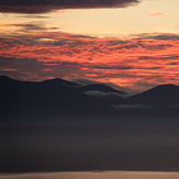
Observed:
[[[0,179],[178,179],[179,172],[98,171],[4,175]]]

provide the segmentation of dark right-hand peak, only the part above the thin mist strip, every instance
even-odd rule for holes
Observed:
[[[179,104],[179,87],[171,83],[160,85],[142,93],[128,97],[124,103],[177,105]]]

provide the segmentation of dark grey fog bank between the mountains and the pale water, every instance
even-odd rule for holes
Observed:
[[[179,170],[175,118],[2,119],[0,172]]]

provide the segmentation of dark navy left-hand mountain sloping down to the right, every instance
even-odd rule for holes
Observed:
[[[41,82],[0,77],[1,112],[102,113],[112,108],[76,90],[78,83],[60,78]]]

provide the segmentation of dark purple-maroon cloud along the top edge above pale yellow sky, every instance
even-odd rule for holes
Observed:
[[[141,0],[1,0],[0,12],[44,13],[60,9],[126,8]]]

